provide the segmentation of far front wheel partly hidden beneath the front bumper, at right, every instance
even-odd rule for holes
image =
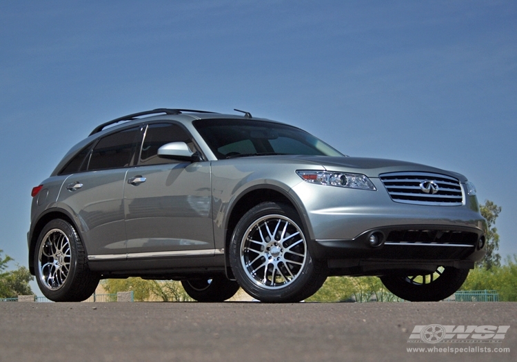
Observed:
[[[405,276],[381,276],[381,281],[393,294],[407,301],[441,301],[458,290],[469,269],[438,267],[434,273]]]

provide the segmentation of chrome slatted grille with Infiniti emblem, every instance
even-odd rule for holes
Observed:
[[[463,205],[463,191],[460,182],[454,177],[429,172],[393,172],[381,174],[379,177],[395,202],[415,205]]]

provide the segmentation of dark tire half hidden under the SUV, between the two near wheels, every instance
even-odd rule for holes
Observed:
[[[181,281],[181,285],[192,299],[200,302],[222,302],[232,298],[239,290],[239,284],[226,276],[187,279]]]

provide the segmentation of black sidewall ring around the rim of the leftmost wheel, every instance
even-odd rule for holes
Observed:
[[[70,243],[70,270],[68,272],[68,276],[66,277],[65,283],[63,283],[61,288],[57,290],[51,290],[47,285],[45,285],[45,283],[43,283],[43,281],[41,281],[39,260],[39,250],[41,248],[41,243],[43,243],[43,237],[45,237],[45,235],[52,229],[61,230],[66,235],[66,237],[68,237],[68,241]],[[77,241],[77,233],[75,232],[74,228],[72,228],[72,225],[61,219],[50,221],[47,225],[45,225],[39,234],[36,248],[34,249],[34,272],[36,274],[36,281],[38,283],[39,289],[43,295],[52,301],[66,299],[70,292],[70,288],[72,288],[73,279],[77,273]]]

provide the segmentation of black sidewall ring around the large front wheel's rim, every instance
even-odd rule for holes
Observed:
[[[250,279],[247,270],[244,269],[241,263],[241,244],[243,243],[243,238],[247,232],[247,229],[250,228],[250,225],[252,225],[256,220],[271,214],[282,215],[296,223],[298,228],[303,233],[306,250],[305,264],[303,265],[303,268],[300,270],[299,274],[296,276],[296,279],[285,285],[285,287],[274,290],[261,288],[260,285]],[[298,301],[296,299],[299,298],[296,296],[297,294],[299,295],[303,292],[303,289],[309,281],[314,270],[314,263],[310,256],[310,247],[309,240],[307,239],[307,233],[305,232],[303,223],[301,223],[301,220],[298,217],[296,211],[294,211],[294,209],[292,209],[290,206],[282,203],[266,202],[256,205],[254,208],[246,212],[239,223],[237,223],[232,235],[232,240],[230,242],[230,265],[232,267],[232,272],[234,273],[234,276],[236,277],[241,287],[254,298],[259,299],[260,301],[271,303]]]

